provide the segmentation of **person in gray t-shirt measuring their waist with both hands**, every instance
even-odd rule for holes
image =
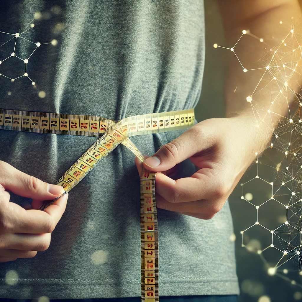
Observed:
[[[276,26],[279,20],[300,17],[296,0],[218,4],[228,45],[245,29],[275,45],[287,31]],[[198,103],[205,58],[202,0],[16,0],[2,5],[1,31],[19,32],[36,11],[45,18],[24,33],[27,40],[47,43],[64,27],[56,47],[41,45],[28,62],[28,75],[44,98],[23,79],[11,83],[0,76],[1,108],[121,120]],[[27,40],[17,40],[21,58],[33,50]],[[239,43],[236,54],[245,66],[263,67],[257,40]],[[235,56],[229,62],[225,118],[131,139],[153,155],[146,156],[145,168],[163,172],[156,176],[161,299],[229,302],[239,294],[227,199],[255,152],[267,145],[268,126],[277,119],[264,114],[264,89],[258,104],[266,123],[255,129],[246,97],[262,71],[244,76]],[[14,72],[17,65],[6,60],[0,71]],[[274,110],[282,114],[286,106],[279,102]],[[140,300],[142,164],[136,159],[135,166],[127,148],[118,146],[68,196],[38,210],[43,200],[58,196],[61,188],[53,184],[94,142],[0,130],[0,297]]]

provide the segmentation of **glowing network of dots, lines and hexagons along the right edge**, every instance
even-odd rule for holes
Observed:
[[[282,21],[280,24],[285,26]],[[302,288],[302,96],[291,88],[295,76],[302,75],[298,64],[302,59],[302,36],[293,26],[289,27],[288,34],[277,45],[265,45],[262,68],[246,69],[236,54],[237,43],[246,35],[265,44],[263,38],[243,30],[233,47],[215,43],[214,48],[233,52],[244,74],[263,69],[255,90],[244,100],[252,106],[256,124],[263,121],[257,112],[257,101],[264,88],[269,89],[272,100],[267,114],[276,115],[273,104],[281,101],[286,102],[288,112],[286,116],[277,114],[280,123],[272,129],[270,146],[261,157],[258,152],[255,154],[255,176],[240,184],[241,199],[249,203],[249,215],[254,217],[241,231],[242,246],[261,257],[268,275],[277,275]],[[260,186],[268,193],[253,200],[253,193]]]

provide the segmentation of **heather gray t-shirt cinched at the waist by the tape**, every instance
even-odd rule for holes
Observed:
[[[54,4],[61,14],[50,10]],[[46,97],[26,78],[11,83],[0,76],[0,108],[120,120],[197,104],[205,55],[202,0],[10,1],[2,4],[0,30],[21,32],[35,11],[43,17],[24,37],[59,41],[41,45],[27,66]],[[58,23],[64,24],[60,35]],[[33,46],[18,39],[15,53],[25,58]],[[9,43],[5,47],[10,53]],[[6,56],[1,52],[0,60]],[[0,72],[22,69],[17,61],[3,62]],[[152,155],[182,132],[132,140]],[[55,183],[94,141],[0,130],[0,160]],[[193,172],[184,162],[183,175]],[[134,155],[118,146],[69,193],[49,249],[0,263],[0,297],[139,297],[139,180]],[[11,195],[20,205],[30,202]],[[228,203],[210,220],[158,209],[158,221],[161,296],[239,293]]]

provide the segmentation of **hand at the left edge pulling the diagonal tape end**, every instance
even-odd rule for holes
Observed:
[[[26,210],[10,202],[8,191],[32,198],[32,209]],[[44,211],[38,209],[43,200],[53,200],[62,193],[62,187],[43,182],[0,161],[0,262],[32,258],[37,251],[48,249],[51,233],[66,209],[68,194]]]

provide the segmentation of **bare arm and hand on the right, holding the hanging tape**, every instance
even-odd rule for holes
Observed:
[[[291,24],[291,17],[294,17],[295,23],[301,22],[299,2],[295,0],[218,0],[218,4],[227,45],[234,45],[245,29],[263,37],[268,45],[276,45],[290,31],[290,26],[288,29],[279,24],[280,20]],[[295,31],[302,33],[299,28],[295,28]],[[243,66],[247,69],[265,67],[263,61],[259,60],[263,57],[263,44],[247,38],[248,43],[242,42],[236,46],[236,54]],[[228,62],[226,117],[201,121],[162,146],[152,156],[159,159],[157,166],[154,160],[150,161],[147,157],[143,163],[135,159],[139,173],[142,166],[151,172],[162,172],[156,175],[155,185],[156,205],[159,208],[200,219],[214,217],[246,169],[255,161],[255,152],[260,156],[261,151],[271,143],[271,135],[279,122],[278,114],[285,116],[288,112],[285,97],[271,106],[271,88],[267,87],[257,95],[254,105],[259,116],[255,117],[246,97],[252,95],[263,69],[244,76],[234,53],[230,52]],[[298,92],[301,84],[301,75],[297,74],[291,79],[290,85],[294,91]],[[267,114],[269,108],[277,114]],[[259,127],[256,127],[257,119]],[[177,164],[185,159],[190,159],[198,171],[191,177],[177,179]]]

